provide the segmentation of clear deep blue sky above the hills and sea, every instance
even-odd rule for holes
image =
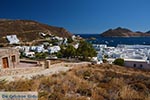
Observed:
[[[0,18],[35,20],[72,33],[150,30],[150,0],[0,0]]]

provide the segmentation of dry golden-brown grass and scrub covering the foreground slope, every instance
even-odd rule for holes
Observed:
[[[0,90],[38,91],[39,100],[150,100],[150,72],[89,65],[49,77],[1,81]]]

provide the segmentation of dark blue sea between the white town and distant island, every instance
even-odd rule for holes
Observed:
[[[78,34],[87,39],[92,44],[107,44],[117,46],[118,44],[127,45],[150,45],[150,37],[101,37],[99,34]],[[90,38],[95,38],[94,40]]]

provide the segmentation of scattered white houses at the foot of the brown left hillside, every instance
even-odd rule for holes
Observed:
[[[23,46],[15,46],[16,49],[19,50],[21,53],[21,56],[24,56],[26,58],[35,58],[35,53],[48,53],[53,55],[54,53],[57,53],[61,50],[61,45],[68,45],[68,39],[62,38],[54,35],[50,35],[46,37],[45,33],[39,33],[41,36],[43,36],[45,39],[40,41],[40,43],[37,43],[36,45],[23,45]],[[72,36],[71,41],[75,40],[75,35]],[[19,39],[16,35],[8,35],[7,40],[9,41],[9,44],[19,44]],[[79,43],[75,42],[73,46],[75,48],[78,48]],[[57,58],[56,56],[52,58]]]

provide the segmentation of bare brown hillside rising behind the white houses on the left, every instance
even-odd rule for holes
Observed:
[[[32,20],[0,20],[0,43],[6,43],[6,35],[16,34],[21,41],[29,42],[40,39],[39,32],[60,37],[70,37],[72,34],[61,27],[49,26]]]

